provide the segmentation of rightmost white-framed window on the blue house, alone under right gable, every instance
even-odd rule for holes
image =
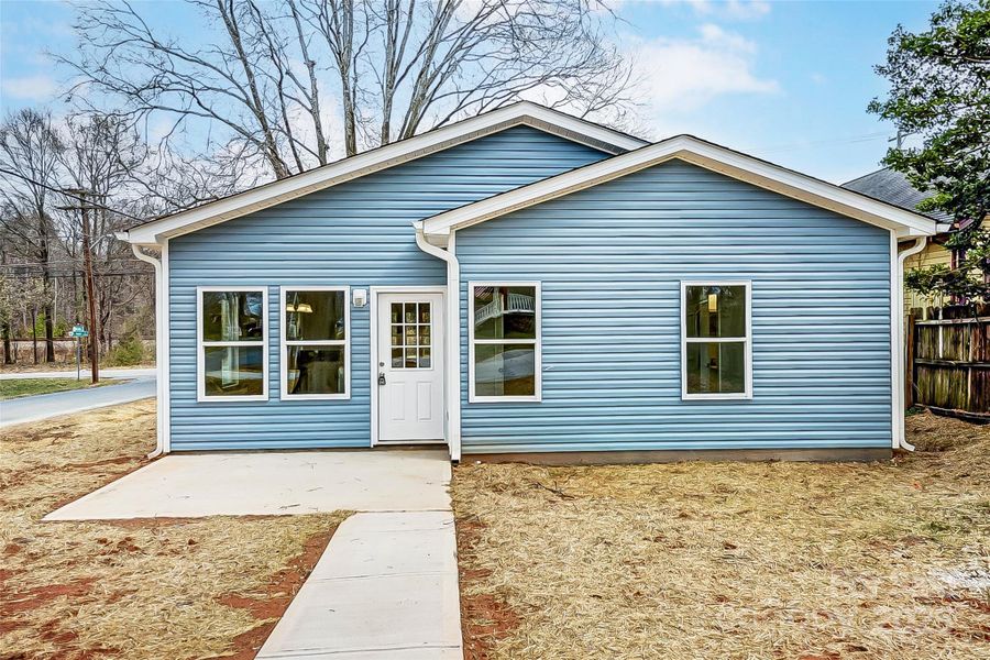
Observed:
[[[681,396],[752,397],[750,284],[681,283]]]

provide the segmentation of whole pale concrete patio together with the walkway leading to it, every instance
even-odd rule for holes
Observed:
[[[461,648],[447,451],[172,454],[45,520],[358,512],[262,647],[264,660],[453,660]]]

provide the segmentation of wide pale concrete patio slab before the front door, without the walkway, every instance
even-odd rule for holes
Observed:
[[[45,520],[450,510],[443,450],[170,454]]]

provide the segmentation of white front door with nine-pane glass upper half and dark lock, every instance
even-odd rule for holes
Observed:
[[[378,442],[442,442],[443,295],[377,295]]]

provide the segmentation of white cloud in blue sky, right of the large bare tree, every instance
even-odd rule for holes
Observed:
[[[645,100],[657,111],[697,109],[737,94],[777,94],[780,85],[754,72],[756,43],[714,24],[696,38],[658,37],[631,53]]]

